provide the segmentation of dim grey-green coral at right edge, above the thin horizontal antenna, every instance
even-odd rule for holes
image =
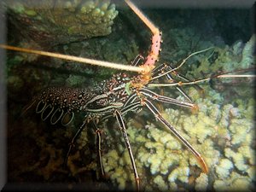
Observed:
[[[208,47],[211,46],[212,44],[209,44]],[[201,64],[200,66],[191,64],[190,72],[193,72],[191,76],[200,77],[202,73],[232,72],[238,69],[253,67],[255,61],[255,55],[253,55],[254,46],[255,34],[252,35],[247,44],[237,41],[233,46],[225,45],[224,48],[215,46],[212,53],[209,50],[209,57],[196,55],[189,63],[198,61]],[[199,49],[204,49],[204,47]],[[234,79],[226,79],[225,82],[232,80]]]

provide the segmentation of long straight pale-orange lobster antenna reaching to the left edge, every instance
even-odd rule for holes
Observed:
[[[5,45],[5,44],[0,44],[0,48],[16,50],[16,51],[37,54],[37,55],[44,55],[44,56],[49,56],[49,57],[55,57],[55,58],[68,60],[68,61],[77,61],[77,62],[81,62],[81,63],[87,63],[90,65],[109,67],[109,68],[114,68],[114,69],[119,69],[119,70],[130,71],[130,72],[143,73],[148,70],[145,67],[135,67],[135,66],[128,66],[128,65],[126,66],[123,64],[119,64],[119,63],[93,60],[93,59],[88,59],[88,58],[73,56],[73,55],[62,55],[59,53],[51,53],[51,52],[47,52],[47,51],[43,51],[43,50],[25,49],[25,48],[20,48],[20,47],[15,47],[15,46],[9,46],[9,45]]]

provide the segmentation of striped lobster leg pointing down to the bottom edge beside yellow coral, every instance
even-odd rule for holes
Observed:
[[[129,155],[130,155],[131,165],[132,165],[132,168],[133,168],[134,177],[135,177],[135,181],[136,181],[136,184],[137,184],[137,191],[139,191],[140,180],[139,180],[139,176],[138,176],[138,173],[137,173],[137,167],[136,167],[136,164],[135,164],[135,160],[134,160],[134,157],[133,157],[133,154],[132,154],[132,151],[131,151],[131,144],[129,142],[129,138],[128,138],[128,135],[127,135],[127,132],[126,132],[125,122],[124,122],[124,119],[122,117],[122,114],[118,110],[115,110],[114,115],[115,115],[115,117],[116,117],[116,119],[119,123],[119,128],[122,131],[123,136],[125,138],[125,145],[126,145],[126,148],[128,149]]]

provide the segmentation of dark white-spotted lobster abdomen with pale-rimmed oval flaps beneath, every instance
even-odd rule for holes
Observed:
[[[36,113],[41,114],[41,119],[49,119],[52,125],[61,121],[62,125],[68,125],[74,117],[74,113],[86,111],[87,103],[94,97],[90,89],[70,87],[48,87],[41,90],[33,98],[36,102]]]

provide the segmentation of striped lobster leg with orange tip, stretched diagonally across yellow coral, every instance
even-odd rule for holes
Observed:
[[[195,148],[193,148],[193,146],[183,136],[181,136],[171,124],[169,124],[166,121],[166,119],[163,118],[163,116],[157,110],[157,108],[154,107],[153,103],[149,102],[147,98],[144,98],[142,100],[142,104],[145,105],[154,114],[154,117],[156,119],[160,120],[162,124],[166,125],[166,127],[168,127],[172,131],[175,137],[177,137],[187,148],[189,148],[189,150],[195,155],[196,159],[200,163],[201,169],[203,170],[203,172],[207,173],[208,167],[205,160],[201,157],[201,154],[197,152]]]

